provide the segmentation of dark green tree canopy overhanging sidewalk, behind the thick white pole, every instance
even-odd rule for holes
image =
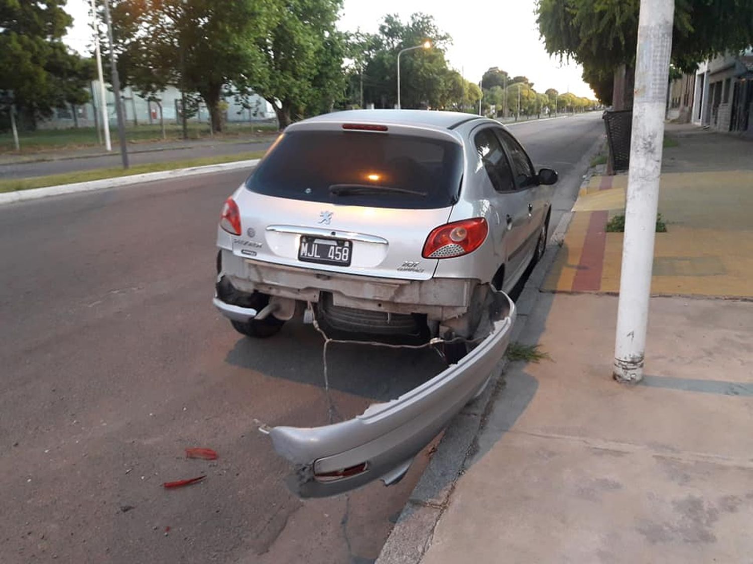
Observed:
[[[622,84],[632,92],[630,80],[625,86],[619,78],[635,64],[639,7],[639,0],[539,0],[538,29],[547,52],[581,63],[584,78],[593,80],[589,83],[605,102],[612,97],[604,92],[608,76],[615,79],[613,90]],[[672,62],[681,71],[694,71],[698,62],[727,50],[744,50],[751,41],[750,0],[675,2]],[[621,99],[623,92],[618,93]]]

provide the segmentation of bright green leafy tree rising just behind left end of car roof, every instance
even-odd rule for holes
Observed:
[[[264,64],[250,86],[275,109],[280,128],[294,117],[331,111],[345,96],[346,36],[335,23],[341,0],[269,0],[274,24],[254,41]]]

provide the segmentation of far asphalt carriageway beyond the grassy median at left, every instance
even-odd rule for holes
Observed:
[[[266,150],[274,141],[274,134],[263,135],[250,141],[178,141],[168,143],[142,143],[128,147],[129,163],[145,165],[152,162],[171,162],[184,159],[199,159],[207,156],[235,155],[249,151]],[[90,171],[97,168],[119,168],[122,164],[120,149],[115,146],[112,153],[102,155],[102,149],[61,151],[59,153],[41,153],[38,162],[6,161],[0,162],[0,177],[30,178],[62,174],[66,172]],[[93,153],[93,154],[87,154]],[[75,158],[60,157],[75,156]]]

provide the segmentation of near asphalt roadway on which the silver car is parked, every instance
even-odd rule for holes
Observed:
[[[556,208],[569,209],[601,120],[512,129],[535,162],[559,168]],[[245,175],[0,208],[2,562],[377,557],[428,452],[395,487],[288,493],[288,465],[255,419],[327,423],[322,339],[301,323],[241,338],[211,306],[219,209]],[[444,368],[428,351],[367,346],[335,347],[328,362],[342,417]],[[186,459],[186,447],[219,458]]]

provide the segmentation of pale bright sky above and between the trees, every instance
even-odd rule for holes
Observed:
[[[87,0],[68,0],[66,5],[74,17],[66,42],[81,53],[91,44],[88,5]],[[413,12],[423,11],[452,36],[447,59],[467,80],[478,82],[487,68],[499,67],[510,76],[528,77],[537,92],[554,88],[595,98],[579,65],[547,55],[538,37],[535,7],[535,0],[345,0],[338,26],[343,31],[377,32],[386,14],[407,21]]]

